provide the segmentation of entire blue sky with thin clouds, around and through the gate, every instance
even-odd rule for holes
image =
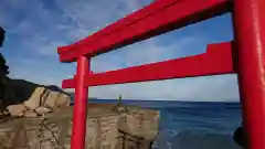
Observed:
[[[61,64],[56,47],[81,40],[131,13],[150,0],[1,0],[0,25],[7,30],[1,50],[10,77],[61,85],[75,74],[76,64]],[[178,10],[176,11],[178,13]],[[159,62],[203,53],[208,43],[231,41],[231,15],[113,51],[92,61],[94,72]],[[131,99],[239,102],[235,75],[158,81],[91,87],[89,96]]]

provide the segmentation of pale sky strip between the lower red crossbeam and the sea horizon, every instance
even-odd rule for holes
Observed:
[[[89,88],[91,97],[130,99],[239,102],[235,75],[169,79]]]

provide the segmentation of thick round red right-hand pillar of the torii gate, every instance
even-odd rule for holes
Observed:
[[[235,0],[236,64],[250,149],[265,149],[265,1]]]

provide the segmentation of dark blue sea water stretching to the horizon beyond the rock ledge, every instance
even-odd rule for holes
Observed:
[[[152,149],[241,149],[232,139],[234,130],[241,124],[239,103],[123,102],[160,110],[159,135]]]

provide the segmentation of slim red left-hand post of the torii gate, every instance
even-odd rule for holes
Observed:
[[[89,71],[89,61],[85,56],[77,58],[76,85],[75,85],[75,104],[73,115],[73,129],[71,148],[84,149],[86,136],[86,106],[88,98],[88,87],[85,87],[85,76]]]

